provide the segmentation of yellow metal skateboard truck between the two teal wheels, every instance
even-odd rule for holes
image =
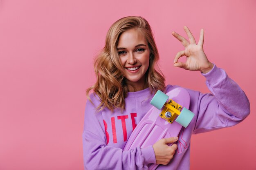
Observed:
[[[168,103],[166,102],[164,104],[164,108],[159,116],[172,124],[177,115],[180,115],[181,109],[182,106],[170,99],[168,100]]]

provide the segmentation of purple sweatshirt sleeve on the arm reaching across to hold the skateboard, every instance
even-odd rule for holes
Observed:
[[[92,95],[91,99],[97,103]],[[82,135],[85,170],[147,170],[148,163],[155,163],[153,146],[127,151],[107,146],[101,112],[97,112],[97,105],[92,103],[89,100],[86,103]]]

